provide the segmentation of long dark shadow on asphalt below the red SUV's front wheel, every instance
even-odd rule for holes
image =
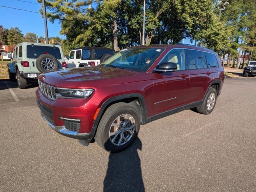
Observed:
[[[142,143],[139,138],[136,138],[126,150],[110,153],[104,179],[104,192],[145,191],[138,149],[142,150]]]

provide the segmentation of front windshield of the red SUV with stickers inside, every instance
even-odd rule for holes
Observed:
[[[146,72],[164,51],[162,48],[135,47],[122,50],[106,60],[106,67]]]

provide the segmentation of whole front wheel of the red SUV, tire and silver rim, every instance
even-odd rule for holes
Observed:
[[[128,121],[128,125],[125,127],[124,126],[122,127],[122,124],[124,123],[123,121],[124,116],[122,116],[123,114],[127,114],[127,117],[130,119],[130,121]],[[116,121],[116,125],[118,125],[117,119],[119,116],[121,116],[119,126],[118,126],[120,130],[118,130],[117,126],[112,126],[112,124],[114,124],[115,121]],[[135,126],[131,128],[130,131],[124,130],[125,128],[129,129],[134,124]],[[94,138],[101,148],[103,148],[108,152],[116,153],[116,152],[121,152],[122,150],[125,150],[126,148],[128,148],[132,144],[132,142],[134,142],[135,138],[138,135],[139,130],[140,130],[140,115],[138,114],[137,110],[129,104],[120,102],[120,103],[113,104],[105,111],[105,113],[103,114],[100,120],[98,129]],[[118,133],[118,134],[115,134],[116,135],[116,139],[114,140],[114,143],[116,142],[115,144],[113,144],[110,141],[110,132]],[[133,134],[130,134],[130,132],[133,132]],[[112,140],[114,139],[115,135],[112,136]],[[126,137],[127,142],[123,138],[121,139],[120,145],[118,145],[118,141],[120,140],[121,135]]]

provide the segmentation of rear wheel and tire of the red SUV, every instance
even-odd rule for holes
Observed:
[[[208,99],[209,99],[211,94],[214,94],[214,102],[211,102],[212,103],[212,104],[210,104],[211,107],[208,108],[208,103],[207,102],[208,102]],[[198,106],[196,108],[197,112],[201,113],[201,114],[204,114],[204,115],[210,114],[214,110],[216,101],[217,101],[217,91],[216,91],[216,89],[210,87],[208,92],[206,93],[206,96],[204,98],[204,101],[203,101],[202,105]]]

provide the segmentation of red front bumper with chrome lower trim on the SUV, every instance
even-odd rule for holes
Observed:
[[[97,98],[58,98],[54,101],[42,95],[39,89],[36,90],[36,96],[42,118],[53,130],[64,136],[89,142],[94,137],[95,130],[92,126],[97,109],[96,103],[99,103]],[[72,123],[72,120],[79,120],[78,129],[67,127],[66,122]]]

